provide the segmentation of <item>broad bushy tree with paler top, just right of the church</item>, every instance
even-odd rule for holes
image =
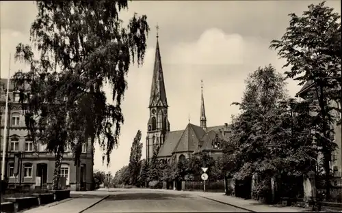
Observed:
[[[290,102],[285,80],[272,66],[259,68],[248,76],[242,101],[235,104],[241,113],[233,119],[227,143],[233,147],[233,154],[226,147],[223,154],[225,162],[232,166],[228,175],[250,184],[252,175],[257,173],[262,180],[257,194],[263,197],[269,194],[270,180],[275,175],[302,175],[304,169],[313,169],[312,119],[304,107],[308,105]]]

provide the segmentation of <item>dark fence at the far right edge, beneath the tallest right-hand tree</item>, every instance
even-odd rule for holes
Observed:
[[[324,175],[316,175],[315,177],[318,195],[326,194],[324,178]],[[334,171],[334,173],[332,173],[330,183],[330,197],[324,201],[342,203],[342,172]]]

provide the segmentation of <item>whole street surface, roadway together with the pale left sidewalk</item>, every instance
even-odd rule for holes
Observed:
[[[68,201],[25,212],[248,212],[200,195],[202,193],[174,190],[111,188],[109,191],[73,192]]]

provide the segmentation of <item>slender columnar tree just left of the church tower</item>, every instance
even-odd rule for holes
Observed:
[[[137,183],[137,176],[140,173],[140,159],[142,158],[142,132],[137,130],[137,134],[132,143],[131,155],[129,156],[129,173],[131,176],[131,184],[135,185]]]

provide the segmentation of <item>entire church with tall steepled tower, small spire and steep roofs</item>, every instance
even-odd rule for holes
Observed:
[[[159,160],[166,160],[167,162],[170,162],[171,158],[175,158],[177,161],[190,158],[200,154],[200,152],[217,158],[222,154],[222,141],[231,135],[231,126],[227,123],[207,127],[202,86],[200,126],[189,123],[184,130],[170,131],[168,100],[161,66],[158,35],[148,109],[150,111],[146,137],[146,160],[148,161],[152,158],[154,150],[158,150]]]

